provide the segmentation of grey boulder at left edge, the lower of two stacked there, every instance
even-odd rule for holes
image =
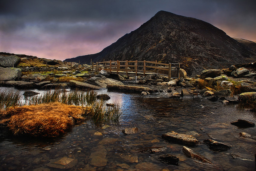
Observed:
[[[20,68],[0,68],[0,81],[16,80],[20,77]]]

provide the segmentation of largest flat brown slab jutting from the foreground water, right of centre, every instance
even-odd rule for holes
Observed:
[[[163,134],[162,138],[171,142],[182,144],[200,144],[200,142],[195,137],[187,134],[176,133],[174,131]]]

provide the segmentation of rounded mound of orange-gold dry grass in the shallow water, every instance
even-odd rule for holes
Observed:
[[[14,135],[55,137],[65,133],[74,124],[83,121],[89,107],[66,105],[59,102],[25,105],[10,108],[4,119]]]

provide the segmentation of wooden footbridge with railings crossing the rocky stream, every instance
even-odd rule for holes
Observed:
[[[94,63],[92,63],[92,70],[94,70]],[[157,61],[103,61],[96,62],[95,70],[104,69],[110,74],[119,75],[163,75],[171,78],[180,78],[179,69],[180,63],[159,63]]]

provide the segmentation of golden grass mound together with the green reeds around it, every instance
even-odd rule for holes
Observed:
[[[14,135],[55,137],[73,125],[90,119],[95,125],[118,121],[118,104],[107,107],[95,91],[48,90],[21,101],[19,92],[0,92],[0,123]]]

